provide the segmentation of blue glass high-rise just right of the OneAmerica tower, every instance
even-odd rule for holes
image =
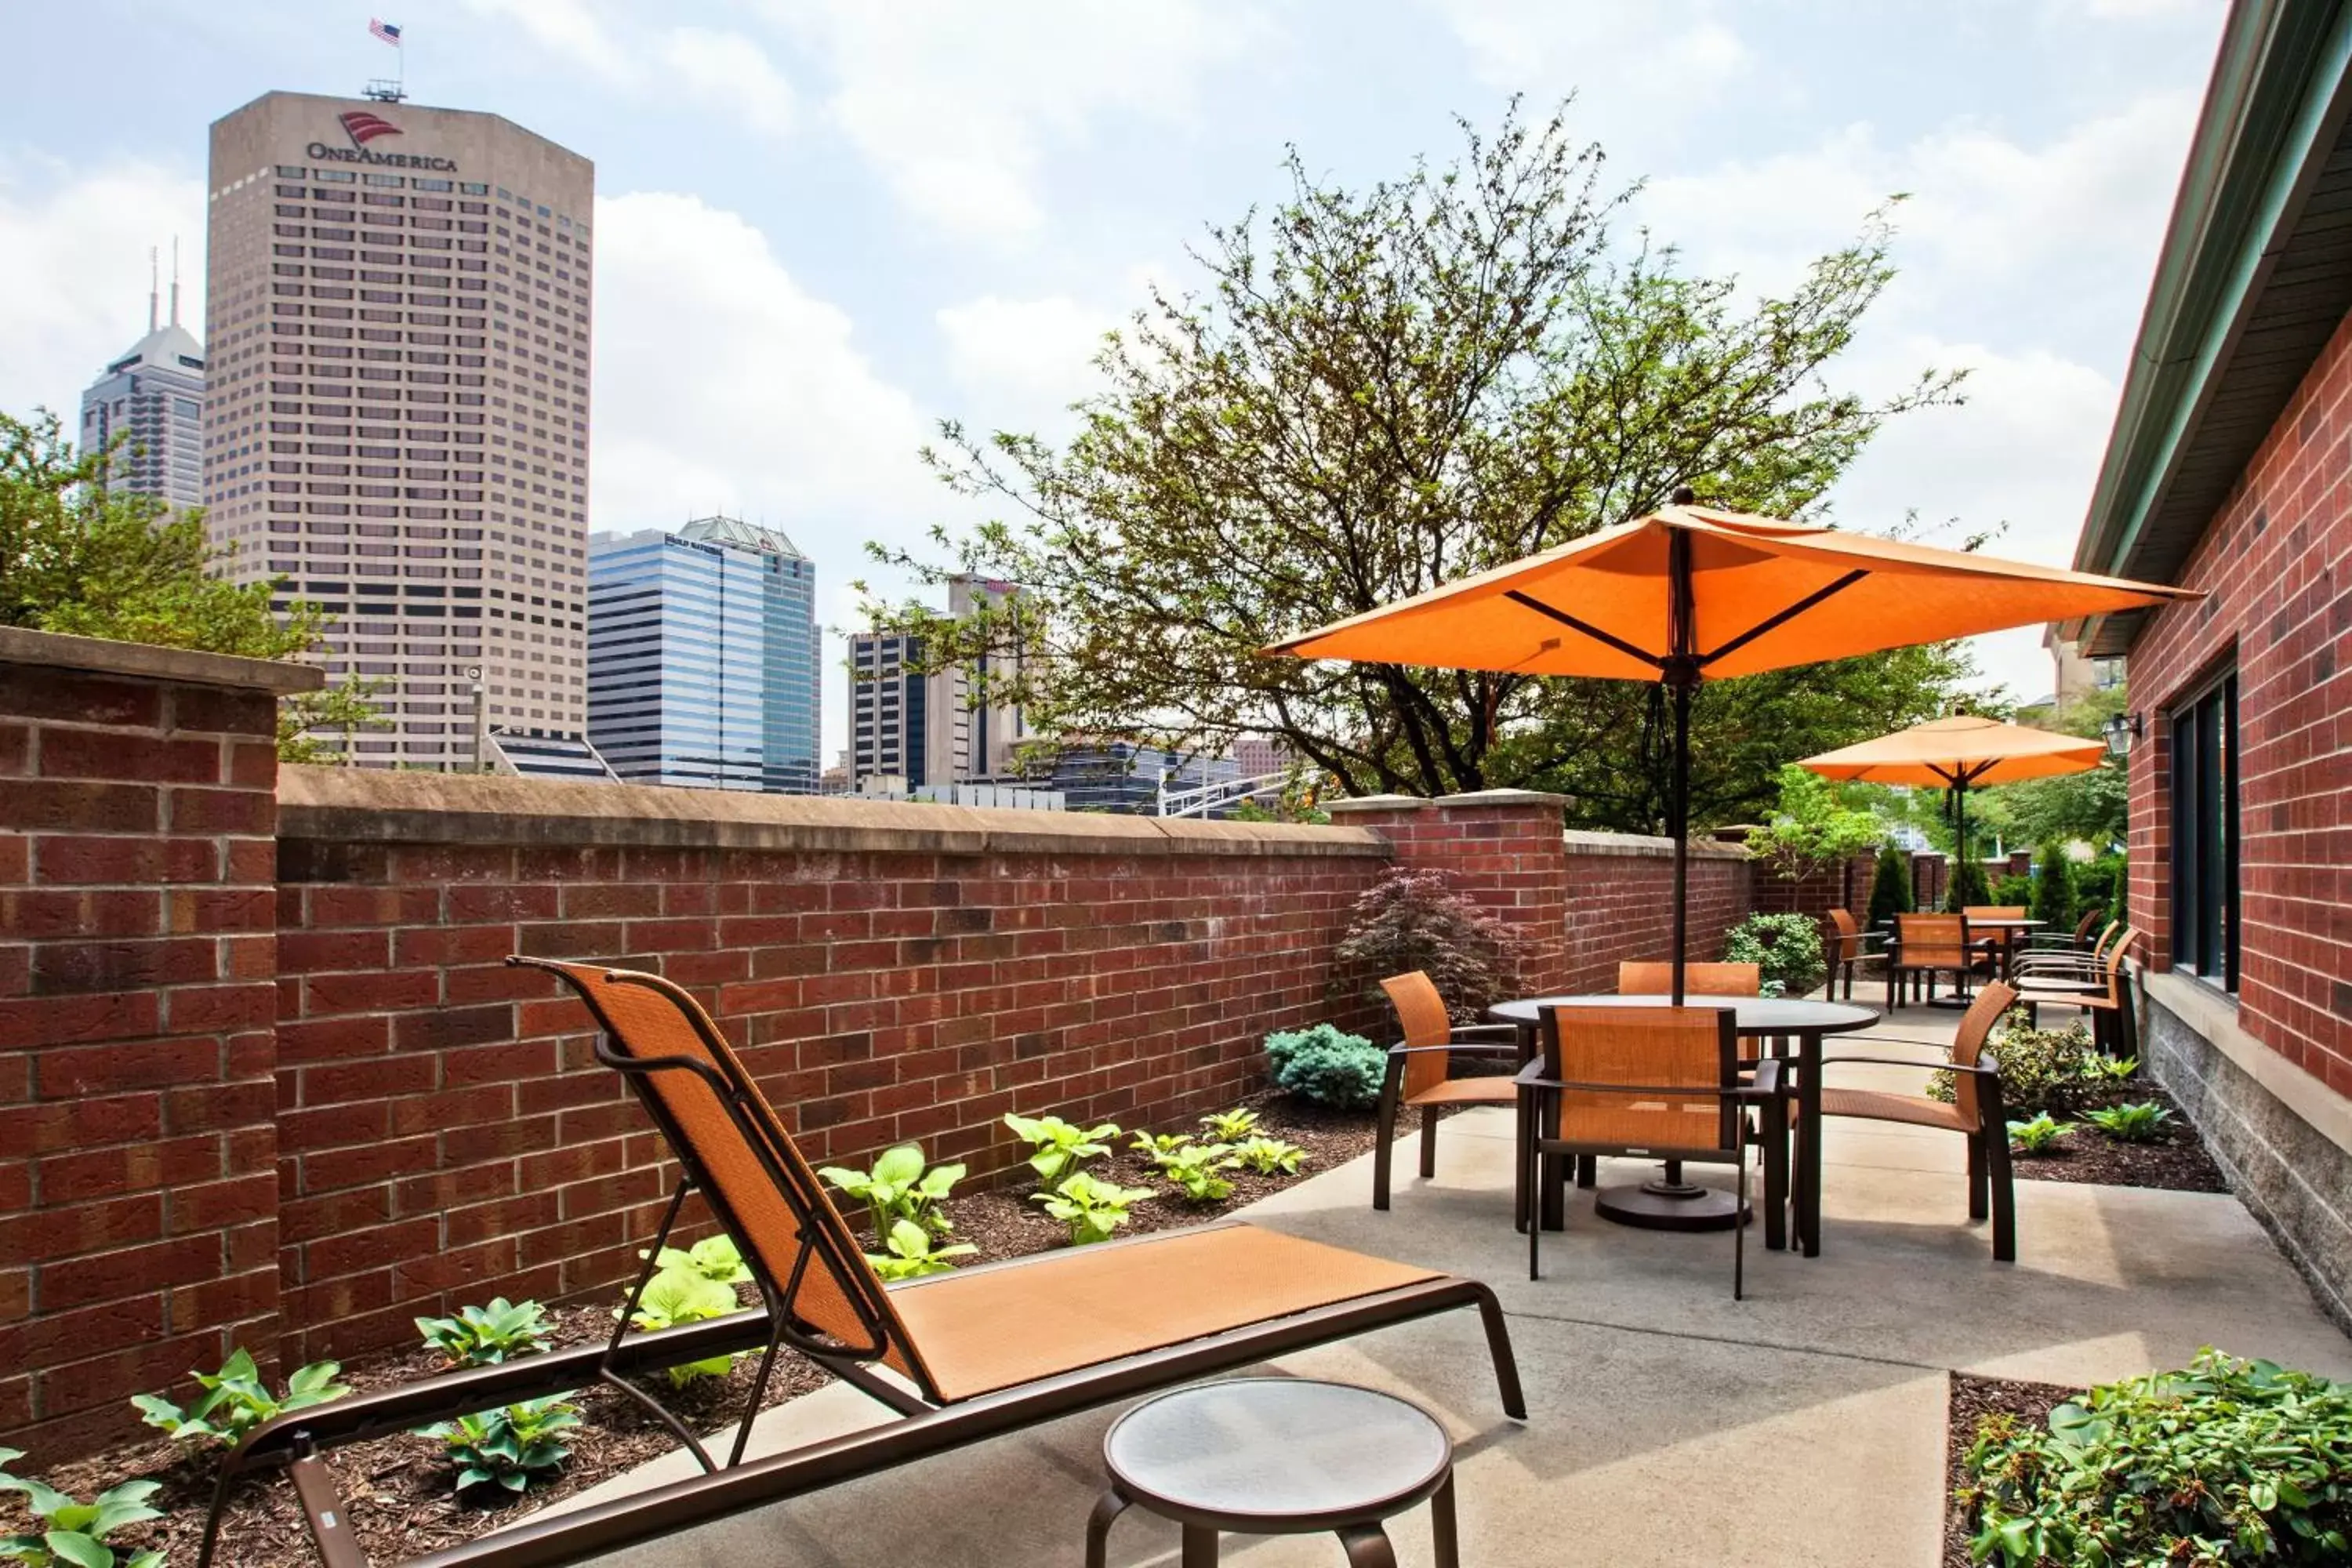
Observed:
[[[626,783],[816,792],[816,564],[701,517],[588,541],[588,738]]]

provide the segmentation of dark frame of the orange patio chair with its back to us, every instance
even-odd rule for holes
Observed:
[[[1526,1276],[1543,1279],[1543,1218],[1538,1213],[1538,1197],[1545,1182],[1548,1159],[1573,1157],[1573,1159],[1599,1159],[1602,1154],[1639,1154],[1642,1159],[1665,1159],[1672,1164],[1726,1164],[1738,1166],[1738,1218],[1731,1225],[1731,1300],[1745,1300],[1748,1293],[1748,1147],[1750,1143],[1764,1145],[1764,1159],[1769,1159],[1769,1143],[1764,1138],[1750,1138],[1745,1110],[1750,1105],[1773,1107],[1783,1121],[1788,1093],[1780,1086],[1780,1058],[1766,1056],[1752,1063],[1752,1081],[1740,1081],[1740,1070],[1748,1063],[1740,1060],[1738,1048],[1738,1013],[1731,1009],[1715,1009],[1717,1016],[1717,1053],[1722,1063],[1719,1081],[1710,1086],[1693,1084],[1595,1084],[1581,1079],[1552,1077],[1559,1063],[1559,1016],[1571,1009],[1545,1009],[1543,1034],[1545,1046],[1519,1072],[1519,1213],[1526,1220]],[[1675,1095],[1684,1100],[1696,1100],[1700,1095],[1712,1095],[1722,1107],[1719,1135],[1715,1145],[1700,1147],[1639,1147],[1630,1150],[1623,1143],[1588,1143],[1581,1138],[1545,1138],[1538,1128],[1555,1121],[1548,1112],[1557,1107],[1564,1091],[1576,1093],[1616,1093],[1616,1095]],[[1783,1135],[1783,1150],[1785,1135]],[[1555,1166],[1555,1173],[1564,1173],[1566,1166]],[[1766,1182],[1771,1185],[1771,1182]]]

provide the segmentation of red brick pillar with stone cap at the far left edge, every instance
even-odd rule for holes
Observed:
[[[0,1439],[278,1349],[275,693],[320,672],[0,628]]]

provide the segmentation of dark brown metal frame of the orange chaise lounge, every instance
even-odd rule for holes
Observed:
[[[1519,1387],[1517,1359],[1510,1347],[1510,1328],[1503,1319],[1501,1302],[1489,1286],[1475,1279],[1444,1274],[1343,1302],[1329,1302],[1324,1307],[1291,1312],[1258,1324],[1242,1324],[1221,1333],[1181,1340],[1162,1349],[1051,1373],[1033,1382],[957,1401],[943,1399],[936,1387],[929,1385],[922,1356],[910,1354],[908,1363],[915,1368],[910,1382],[915,1387],[913,1392],[908,1387],[898,1387],[880,1378],[868,1366],[870,1361],[880,1361],[889,1354],[894,1335],[889,1331],[891,1316],[875,1309],[875,1300],[861,1300],[861,1295],[866,1295],[866,1291],[877,1295],[915,1291],[938,1284],[938,1276],[884,1286],[875,1279],[863,1255],[854,1258],[854,1267],[828,1269],[842,1288],[842,1295],[849,1300],[856,1321],[861,1326],[870,1326],[870,1345],[840,1345],[821,1340],[811,1333],[814,1326],[793,1316],[790,1305],[800,1284],[811,1272],[811,1255],[821,1253],[830,1258],[837,1253],[840,1237],[849,1234],[847,1222],[842,1222],[837,1211],[830,1208],[830,1199],[826,1199],[821,1190],[804,1192],[802,1182],[783,1168],[783,1161],[769,1145],[769,1135],[783,1135],[783,1128],[774,1126],[774,1112],[753,1084],[729,1081],[724,1067],[717,1065],[729,1063],[731,1053],[727,1051],[724,1039],[717,1037],[717,1030],[708,1013],[703,1013],[701,1004],[696,1004],[684,987],[661,976],[621,969],[604,971],[604,978],[612,983],[644,985],[677,1004],[682,1018],[701,1037],[701,1044],[710,1048],[713,1058],[701,1060],[691,1056],[661,1056],[640,1060],[612,1046],[612,1037],[616,1034],[612,1020],[597,1006],[595,997],[572,980],[564,964],[524,957],[510,957],[508,964],[550,971],[581,992],[581,999],[600,1025],[595,1046],[597,1060],[623,1074],[628,1086],[635,1091],[637,1103],[652,1114],[682,1168],[670,1206],[663,1213],[652,1246],[647,1248],[647,1265],[637,1272],[637,1279],[630,1286],[628,1305],[621,1312],[621,1326],[604,1345],[581,1345],[574,1349],[506,1361],[501,1366],[423,1378],[402,1387],[381,1389],[376,1394],[355,1394],[263,1422],[221,1460],[221,1476],[214,1490],[212,1512],[205,1521],[198,1568],[209,1568],[212,1563],[221,1512],[228,1502],[233,1483],[240,1476],[287,1469],[301,1509],[308,1516],[310,1540],[325,1568],[369,1568],[367,1556],[350,1535],[343,1500],[336,1495],[334,1479],[322,1460],[327,1450],[407,1432],[421,1422],[454,1420],[459,1415],[494,1410],[522,1399],[562,1394],[590,1382],[619,1382],[628,1375],[753,1349],[762,1352],[762,1363],[755,1373],[753,1394],[724,1467],[715,1465],[701,1441],[694,1439],[675,1415],[661,1410],[652,1394],[635,1389],[635,1396],[652,1406],[673,1434],[684,1439],[684,1446],[694,1453],[703,1474],[593,1509],[524,1519],[513,1528],[409,1561],[414,1568],[557,1568],[560,1563],[579,1563],[623,1547],[663,1540],[677,1530],[710,1523],[743,1509],[764,1507],[786,1497],[835,1486],[840,1481],[877,1474],[882,1469],[908,1465],[950,1448],[962,1448],[1004,1432],[1035,1427],[1061,1415],[1115,1403],[1136,1394],[1178,1387],[1183,1382],[1195,1382],[1214,1373],[1251,1366],[1270,1356],[1308,1349],[1312,1345],[1348,1340],[1371,1328],[1409,1324],[1463,1307],[1475,1307],[1479,1312],[1505,1415],[1526,1420],[1526,1396]],[[802,1241],[793,1279],[774,1279],[767,1260],[760,1255],[760,1248],[750,1244],[741,1220],[727,1206],[722,1190],[710,1182],[701,1152],[680,1135],[680,1128],[661,1105],[661,1098],[649,1091],[649,1079],[659,1072],[691,1072],[717,1095],[720,1107],[731,1121],[736,1135],[741,1135],[750,1147],[762,1175],[774,1185],[776,1194],[793,1213],[797,1237]],[[753,1272],[753,1284],[760,1291],[762,1307],[703,1324],[689,1324],[684,1328],[633,1333],[628,1328],[628,1314],[635,1307],[637,1295],[644,1291],[644,1284],[652,1279],[661,1246],[668,1241],[689,1192],[701,1192],[706,1204],[710,1204],[710,1213],[720,1220],[727,1234],[741,1244],[743,1260]],[[826,1206],[826,1215],[830,1215],[833,1225],[816,1213],[814,1204]],[[1223,1225],[1240,1222],[1228,1220]],[[1150,1246],[1152,1241],[1197,1234],[1200,1229],[1216,1227],[1188,1227],[1127,1237],[1122,1241],[1096,1244],[1087,1251],[1098,1253],[1101,1248]],[[957,1269],[955,1274],[964,1276],[981,1269],[1035,1267],[1040,1269],[1040,1291],[1051,1291],[1051,1286],[1044,1284],[1044,1276],[1058,1258],[1065,1258],[1065,1253],[1007,1258],[1000,1262]],[[746,1441],[750,1425],[760,1413],[774,1356],[786,1345],[880,1401],[894,1410],[898,1420],[760,1460],[746,1460]],[[906,1345],[906,1349],[913,1349],[913,1345]]]

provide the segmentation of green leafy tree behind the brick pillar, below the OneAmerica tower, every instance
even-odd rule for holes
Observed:
[[[212,576],[200,510],[174,512],[153,496],[106,489],[122,442],[75,456],[56,414],[0,414],[0,625],[75,637],[153,642],[245,658],[292,658],[320,646],[327,616],[296,599],[270,611],[282,583]],[[313,724],[374,719],[372,682],[287,698],[278,750],[318,762]]]

